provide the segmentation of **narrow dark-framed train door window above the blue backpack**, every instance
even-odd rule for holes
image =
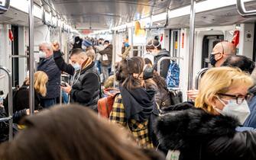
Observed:
[[[180,30],[171,30],[170,53],[173,57],[180,57]]]

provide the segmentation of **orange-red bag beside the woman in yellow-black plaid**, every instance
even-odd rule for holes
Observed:
[[[109,88],[104,90],[105,97],[100,98],[98,101],[98,113],[102,117],[109,118],[109,114],[112,111],[112,107],[115,101],[115,96],[120,94],[120,91],[115,88]]]

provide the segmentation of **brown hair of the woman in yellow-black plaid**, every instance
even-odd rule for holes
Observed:
[[[116,80],[129,90],[141,87],[141,80],[134,77],[133,74],[141,75],[144,65],[144,59],[138,56],[123,59],[118,64]]]

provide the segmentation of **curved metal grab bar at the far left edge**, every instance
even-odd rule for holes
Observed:
[[[5,67],[0,66],[0,70],[3,70],[8,75],[8,117],[0,118],[0,122],[8,121],[9,122],[9,142],[12,140],[12,77],[11,72]]]

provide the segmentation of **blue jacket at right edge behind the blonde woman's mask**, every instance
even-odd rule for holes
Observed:
[[[256,86],[249,90],[251,94],[254,94],[254,97],[251,98],[251,101],[248,103],[251,114],[245,120],[244,126],[256,128]]]

